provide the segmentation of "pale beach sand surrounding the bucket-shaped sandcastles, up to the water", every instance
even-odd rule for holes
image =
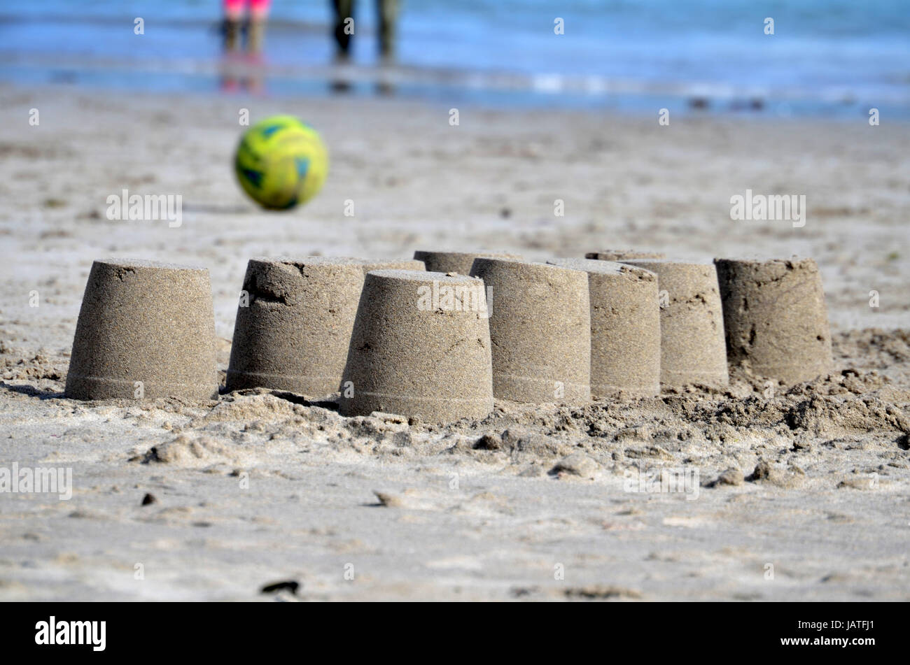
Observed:
[[[451,127],[450,104],[0,99],[0,467],[71,467],[75,485],[70,501],[0,494],[0,599],[910,599],[906,124],[462,108]],[[240,108],[320,128],[333,162],[314,202],[244,199]],[[183,224],[108,221],[125,188],[181,194]],[[806,194],[805,226],[732,222],[746,188]],[[251,256],[610,246],[813,256],[835,372],[786,392],[733,375],[723,392],[499,401],[445,428],[281,392],[61,397],[95,258],[206,265],[223,381]],[[699,484],[624,491],[640,465]],[[286,580],[296,596],[258,592]]]

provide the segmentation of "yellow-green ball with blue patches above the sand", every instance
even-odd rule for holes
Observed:
[[[288,210],[319,192],[329,154],[308,124],[293,115],[273,115],[243,134],[234,168],[250,198],[264,208]]]

